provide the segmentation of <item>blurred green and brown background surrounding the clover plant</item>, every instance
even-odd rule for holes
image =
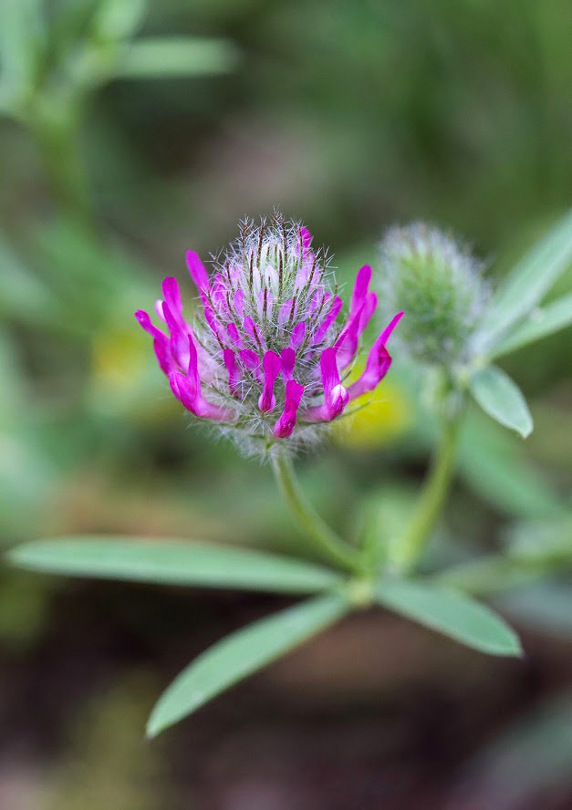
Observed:
[[[567,0],[2,0],[0,542],[303,552],[269,471],[189,427],[133,312],[164,275],[191,302],[185,250],[206,258],[275,206],[342,279],[417,219],[502,275],[570,204],[571,35]],[[528,441],[470,415],[434,560],[569,543],[570,337],[506,358]],[[431,445],[395,358],[380,400],[300,473],[351,533],[380,488],[400,519]],[[497,599],[522,661],[365,612],[143,743],[172,675],[281,601],[3,567],[0,807],[572,806],[564,573]]]

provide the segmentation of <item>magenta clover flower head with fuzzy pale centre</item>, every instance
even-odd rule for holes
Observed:
[[[369,349],[359,379],[344,384],[378,296],[369,292],[365,265],[340,327],[342,299],[311,242],[307,228],[278,214],[258,227],[243,223],[236,243],[215,262],[213,278],[198,254],[187,254],[201,299],[193,326],[182,316],[172,277],[163,281],[155,306],[169,334],[148,313],[136,313],[177,400],[195,417],[246,439],[247,451],[264,452],[279,440],[312,441],[390,369],[386,342],[403,313]]]

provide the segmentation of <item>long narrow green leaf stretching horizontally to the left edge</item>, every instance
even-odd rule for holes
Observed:
[[[287,594],[314,593],[342,581],[336,572],[302,560],[242,548],[136,537],[41,540],[16,546],[8,559],[21,568],[51,574]]]

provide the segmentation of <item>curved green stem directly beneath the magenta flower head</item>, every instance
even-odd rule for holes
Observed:
[[[346,545],[308,503],[290,459],[284,453],[277,452],[273,456],[272,465],[280,491],[300,528],[337,566],[352,572],[359,571],[358,552]]]

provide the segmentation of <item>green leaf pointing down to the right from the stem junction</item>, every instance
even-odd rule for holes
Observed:
[[[454,590],[417,582],[381,581],[377,600],[427,628],[491,655],[521,655],[515,631],[490,608]]]

